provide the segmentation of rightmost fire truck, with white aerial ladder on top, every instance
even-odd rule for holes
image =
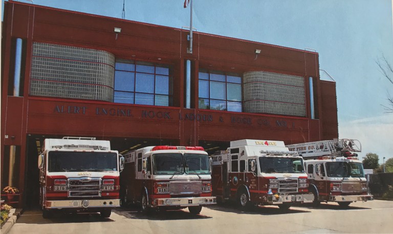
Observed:
[[[313,204],[338,202],[342,207],[351,202],[373,200],[368,193],[363,164],[357,158],[361,144],[354,139],[333,139],[287,145],[304,159],[314,194]]]

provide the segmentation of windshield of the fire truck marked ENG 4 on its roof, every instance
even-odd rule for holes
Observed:
[[[299,158],[260,157],[260,171],[266,173],[304,173],[303,160]]]

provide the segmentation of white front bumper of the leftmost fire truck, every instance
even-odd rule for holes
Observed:
[[[46,201],[46,208],[47,209],[114,208],[114,207],[120,207],[120,199],[50,200],[50,201]]]

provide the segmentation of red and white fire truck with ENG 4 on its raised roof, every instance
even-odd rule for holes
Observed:
[[[254,205],[292,204],[314,199],[308,191],[303,159],[282,141],[231,141],[227,150],[212,155],[213,196],[217,202],[236,201],[239,209]]]

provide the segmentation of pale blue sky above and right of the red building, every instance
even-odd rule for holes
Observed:
[[[123,9],[123,0],[33,1],[116,18],[121,18]],[[384,113],[382,106],[393,96],[393,84],[376,61],[385,56],[393,64],[392,2],[193,0],[192,27],[203,33],[315,49],[320,69],[336,81],[339,138],[359,140],[359,156],[377,153],[382,164],[383,157],[393,158],[393,113]],[[183,4],[184,0],[124,0],[125,19],[189,27],[190,9]],[[330,79],[324,72],[321,78]]]

